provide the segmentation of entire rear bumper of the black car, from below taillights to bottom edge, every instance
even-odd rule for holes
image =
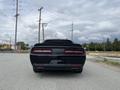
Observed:
[[[37,70],[81,70],[84,66],[86,56],[37,56],[30,55],[34,69]],[[52,60],[61,60],[51,64]]]

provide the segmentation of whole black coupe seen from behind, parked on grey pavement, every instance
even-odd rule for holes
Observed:
[[[35,44],[30,52],[34,72],[67,70],[81,73],[86,53],[80,44],[70,40],[50,39]]]

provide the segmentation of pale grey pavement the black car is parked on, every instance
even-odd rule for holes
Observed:
[[[0,54],[0,90],[120,90],[120,72],[87,57],[82,74],[32,71],[29,54]]]

